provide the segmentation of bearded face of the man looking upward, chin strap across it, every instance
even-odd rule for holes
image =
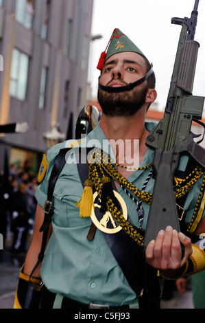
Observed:
[[[110,87],[124,87],[145,76],[146,64],[144,58],[134,52],[122,52],[112,55],[101,71],[99,83]],[[145,102],[147,82],[143,82],[131,91],[108,93],[98,90],[98,100],[106,115],[134,115]]]

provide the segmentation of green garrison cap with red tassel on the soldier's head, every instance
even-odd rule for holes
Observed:
[[[106,49],[107,48],[107,52],[106,50],[102,52],[99,58],[99,63],[97,65],[97,69],[99,70],[104,67],[104,62],[114,54],[121,52],[135,52],[145,56],[143,52],[141,52],[141,50],[138,49],[138,47],[130,40],[130,38],[117,28],[112,32],[112,36],[110,37],[110,41],[108,42]]]

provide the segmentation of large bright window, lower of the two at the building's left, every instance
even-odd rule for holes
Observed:
[[[29,56],[14,48],[10,73],[10,95],[19,100],[26,98],[28,69]]]

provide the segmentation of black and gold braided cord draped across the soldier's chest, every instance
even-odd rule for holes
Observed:
[[[152,194],[138,190],[138,188],[136,188],[136,186],[134,186],[132,183],[130,183],[130,181],[128,181],[127,179],[125,179],[125,177],[123,177],[116,170],[116,168],[114,168],[114,166],[111,164],[110,157],[107,157],[106,154],[104,154],[102,152],[99,153],[98,151],[95,151],[94,154],[95,154],[94,163],[93,163],[93,160],[92,160],[92,163],[89,163],[89,159],[88,159],[88,168],[89,168],[88,180],[91,181],[92,186],[95,186],[95,190],[99,194],[100,198],[101,198],[103,181],[101,181],[101,179],[99,177],[98,169],[100,170],[103,179],[105,178],[104,172],[106,172],[106,174],[110,175],[110,177],[112,177],[112,179],[118,181],[124,187],[128,188],[128,190],[130,190],[130,192],[132,192],[132,194],[134,194],[136,197],[141,199],[141,201],[144,201],[147,204],[151,203]],[[92,156],[92,158],[93,158],[93,156]],[[112,163],[115,164],[114,161],[112,161]],[[150,166],[152,166],[152,163],[150,163],[149,165],[147,165],[145,167],[138,168],[138,169],[139,170],[140,169],[147,169]],[[198,179],[200,179],[200,177],[202,177],[202,174],[203,174],[202,169],[199,166],[197,166],[185,179],[180,181],[180,183],[178,183],[177,186],[173,186],[176,199],[184,196],[184,194],[189,192],[191,190],[191,188],[193,188],[193,186],[195,185],[196,181]],[[200,203],[200,198],[202,196],[204,186],[205,186],[205,175],[204,175],[204,180],[203,180],[203,185],[202,185],[202,189],[200,192],[200,196],[198,197],[197,205],[199,205],[199,203]],[[191,223],[193,223],[193,221],[195,219],[195,213],[197,212],[197,205],[195,207],[195,212],[193,214],[193,218],[191,220]],[[131,225],[131,223],[124,218],[123,214],[121,214],[121,212],[117,209],[117,207],[112,202],[112,199],[110,199],[109,197],[108,197],[108,201],[107,201],[107,207],[108,207],[108,211],[110,212],[110,214],[113,216],[114,219],[116,219],[117,223],[119,223],[119,225],[121,225],[123,230],[125,230],[125,232],[128,233],[129,236],[131,238],[133,238],[134,241],[136,241],[138,243],[138,245],[143,245],[143,235],[141,235],[140,230],[137,231],[136,229],[134,229],[134,227]],[[189,227],[191,227],[191,223],[190,223]]]

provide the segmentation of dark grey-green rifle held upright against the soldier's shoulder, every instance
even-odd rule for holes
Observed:
[[[189,155],[203,169],[205,168],[205,150],[194,142],[191,132],[192,121],[205,125],[199,121],[202,118],[204,97],[192,96],[197,52],[200,44],[194,41],[197,25],[197,8],[195,6],[191,18],[173,18],[171,23],[182,25],[176,60],[171,76],[171,85],[162,120],[152,130],[146,139],[148,147],[153,148],[153,167],[156,181],[150,205],[144,247],[152,239],[156,239],[158,232],[171,225],[180,231],[176,199],[173,192],[173,176],[178,169],[180,156]]]

